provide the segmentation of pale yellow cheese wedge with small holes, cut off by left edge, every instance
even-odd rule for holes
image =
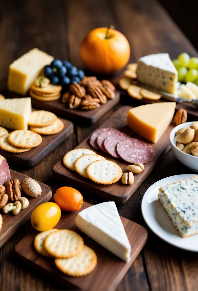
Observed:
[[[11,129],[28,129],[31,112],[30,97],[0,100],[0,126]]]

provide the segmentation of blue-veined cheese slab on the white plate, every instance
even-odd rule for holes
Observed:
[[[181,237],[198,233],[198,176],[161,186],[158,199]]]

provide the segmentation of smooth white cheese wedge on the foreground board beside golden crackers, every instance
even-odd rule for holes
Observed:
[[[130,261],[131,245],[115,202],[103,202],[78,213],[77,227],[120,259]]]

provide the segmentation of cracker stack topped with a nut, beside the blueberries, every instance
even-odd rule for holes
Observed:
[[[38,77],[30,87],[30,96],[39,101],[54,101],[61,97],[62,86],[49,83],[45,77]]]

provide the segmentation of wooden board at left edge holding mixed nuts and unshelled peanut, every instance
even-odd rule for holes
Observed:
[[[11,180],[17,178],[20,183],[25,178],[27,178],[27,176],[12,170],[10,170],[10,175]],[[21,210],[19,214],[13,215],[12,212],[5,214],[3,213],[3,210],[1,210],[1,215],[3,217],[3,226],[0,231],[0,247],[3,246],[3,244],[5,244],[8,241],[8,239],[10,239],[10,237],[12,237],[12,235],[14,235],[17,232],[17,230],[28,221],[35,207],[44,202],[48,202],[51,199],[52,197],[51,188],[48,185],[43,184],[41,182],[38,183],[42,189],[41,196],[30,197],[24,194],[23,191],[21,191],[21,196],[28,198],[29,206]]]

